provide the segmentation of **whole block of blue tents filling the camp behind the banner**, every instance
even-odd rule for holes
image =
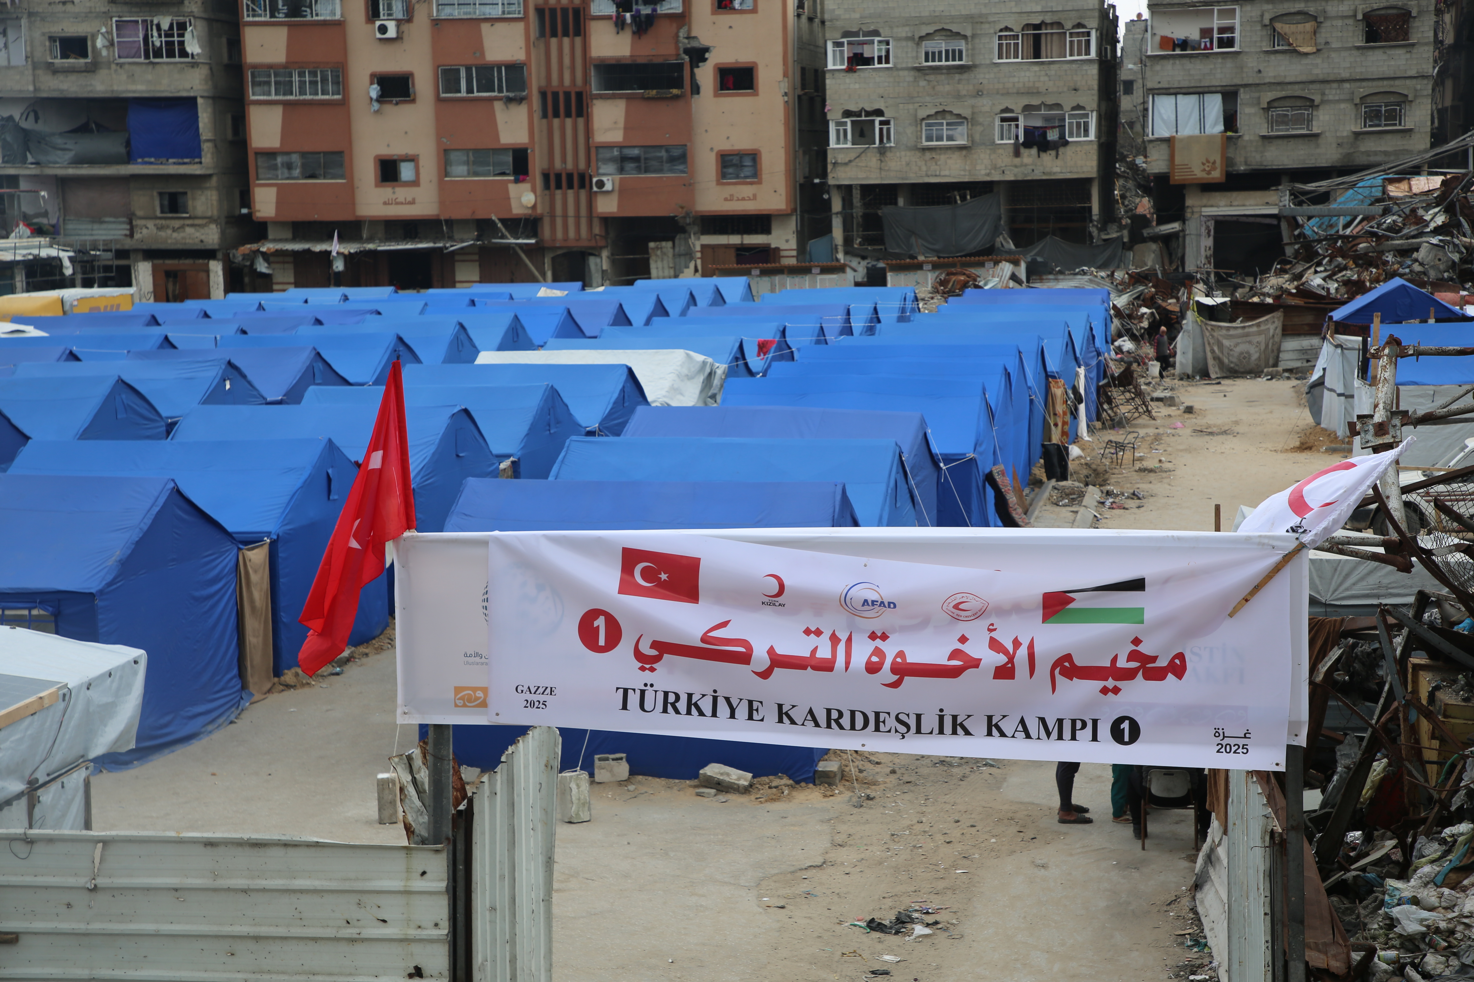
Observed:
[[[989,296],[1002,293],[1016,296]],[[0,337],[0,470],[9,468],[0,489],[25,483],[34,495],[6,495],[16,530],[7,549],[25,558],[46,543],[53,555],[50,565],[18,562],[0,574],[0,618],[50,617],[62,633],[150,651],[158,682],[140,745],[113,766],[198,739],[249,693],[236,671],[234,627],[200,648],[172,624],[203,617],[184,599],[224,624],[233,567],[195,577],[187,598],[171,595],[177,584],[155,589],[152,605],[115,605],[109,577],[124,567],[130,583],[153,576],[142,571],[155,561],[142,546],[158,515],[187,512],[196,530],[212,526],[199,534],[223,557],[270,542],[274,671],[290,667],[305,636],[301,602],[371,430],[374,383],[395,359],[405,364],[422,531],[980,526],[1007,520],[996,502],[1007,489],[989,487],[986,476],[1027,480],[1039,456],[1049,381],[1073,384],[1079,374],[1091,411],[1092,359],[1110,337],[1104,292],[973,292],[937,317],[918,317],[909,290],[755,300],[743,278],[644,281],[598,294],[578,284],[301,290],[34,321],[44,336]],[[538,346],[705,349],[728,368],[722,406],[653,408],[621,364],[470,364],[483,350]],[[125,493],[113,481],[152,484]],[[75,577],[62,576],[57,562],[85,523],[66,508],[28,521],[49,496],[108,502],[96,520],[112,534],[87,534],[127,561],[87,576],[80,562]],[[144,501],[164,504],[118,511]],[[71,601],[57,599],[63,593],[91,596],[97,623],[81,627]],[[388,590],[366,587],[354,643],[382,630],[388,610]],[[494,764],[506,730],[466,729],[457,733],[461,760]],[[600,741],[629,746],[628,735],[600,735],[587,752],[603,752]],[[713,752],[703,743],[681,746]],[[652,752],[646,773],[688,776],[677,743],[662,745],[669,752]],[[817,760],[794,748],[722,752],[796,779]]]

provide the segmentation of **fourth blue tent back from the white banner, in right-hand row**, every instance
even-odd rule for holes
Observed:
[[[1002,458],[982,380],[907,375],[731,378],[722,389],[722,405],[920,412],[952,478],[954,493],[939,493],[933,523],[979,527],[999,521],[986,478],[988,468],[1001,464]]]

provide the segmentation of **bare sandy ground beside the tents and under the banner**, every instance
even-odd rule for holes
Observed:
[[[1136,464],[1101,477],[1142,501],[1103,511],[1107,529],[1229,529],[1335,459],[1294,452],[1310,427],[1296,381],[1175,383],[1192,414],[1132,424]],[[1181,423],[1181,427],[1173,424]],[[1098,431],[1097,440],[1116,436]],[[1136,508],[1141,505],[1141,508]],[[99,829],[292,833],[402,842],[376,824],[374,774],[413,727],[394,724],[392,654],[270,696],[214,736],[94,779]],[[397,729],[399,730],[397,733]],[[932,982],[1089,978],[1147,982],[1201,973],[1184,958],[1192,832],[1157,813],[1142,851],[1110,822],[1110,769],[1085,766],[1075,799],[1091,826],[1055,822],[1044,763],[856,754],[840,791],[789,788],[697,798],[688,782],[595,785],[594,820],[557,838],[554,973],[706,982],[771,978]],[[858,802],[858,807],[856,807]],[[933,933],[870,933],[924,905]],[[1191,935],[1185,935],[1191,936]],[[893,955],[902,961],[881,961]]]

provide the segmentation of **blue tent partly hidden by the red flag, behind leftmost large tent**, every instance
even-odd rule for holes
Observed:
[[[273,674],[280,676],[307,640],[296,618],[357,470],[332,440],[32,440],[10,473],[170,477],[240,546],[270,540]],[[349,643],[389,626],[388,599],[383,579],[363,589]]]

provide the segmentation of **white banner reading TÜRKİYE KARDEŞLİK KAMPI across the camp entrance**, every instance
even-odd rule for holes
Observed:
[[[1228,611],[1293,545],[1005,529],[405,536],[398,717],[1275,770],[1303,742],[1304,555]]]

